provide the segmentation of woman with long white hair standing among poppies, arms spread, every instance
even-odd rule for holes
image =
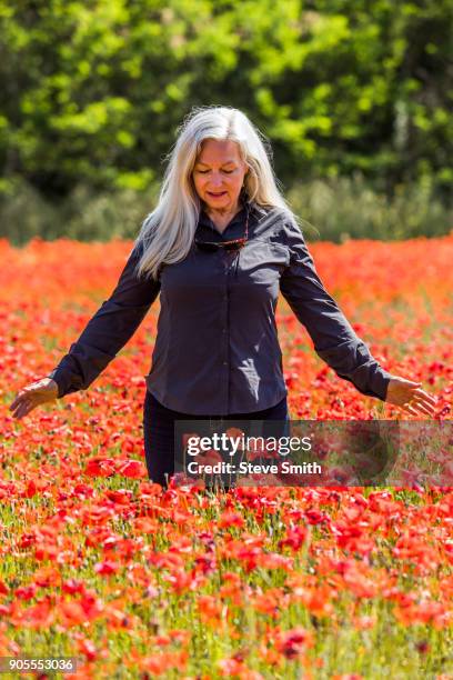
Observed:
[[[279,291],[338,376],[409,413],[434,413],[435,399],[381,368],[325,291],[259,131],[239,110],[197,109],[179,130],[159,203],[109,300],[10,409],[23,418],[87,389],[160,294],[143,424],[149,476],[164,486],[175,420],[288,419]]]

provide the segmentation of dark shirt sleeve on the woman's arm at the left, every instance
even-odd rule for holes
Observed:
[[[160,281],[138,278],[137,244],[108,300],[104,300],[48,378],[58,384],[58,398],[85,390],[133,336],[160,291]]]

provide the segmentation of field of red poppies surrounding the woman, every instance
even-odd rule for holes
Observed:
[[[453,489],[147,479],[159,302],[88,391],[12,419],[131,246],[0,240],[0,657],[77,657],[70,679],[453,678]],[[311,251],[374,357],[450,420],[453,236]],[[278,322],[293,419],[412,419],[340,380],[284,300]]]

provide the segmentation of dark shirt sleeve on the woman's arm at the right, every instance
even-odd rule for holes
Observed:
[[[284,224],[284,238],[290,261],[282,273],[280,289],[306,328],[315,352],[362,394],[385,401],[391,373],[372,357],[325,290],[301,230],[292,220]]]

